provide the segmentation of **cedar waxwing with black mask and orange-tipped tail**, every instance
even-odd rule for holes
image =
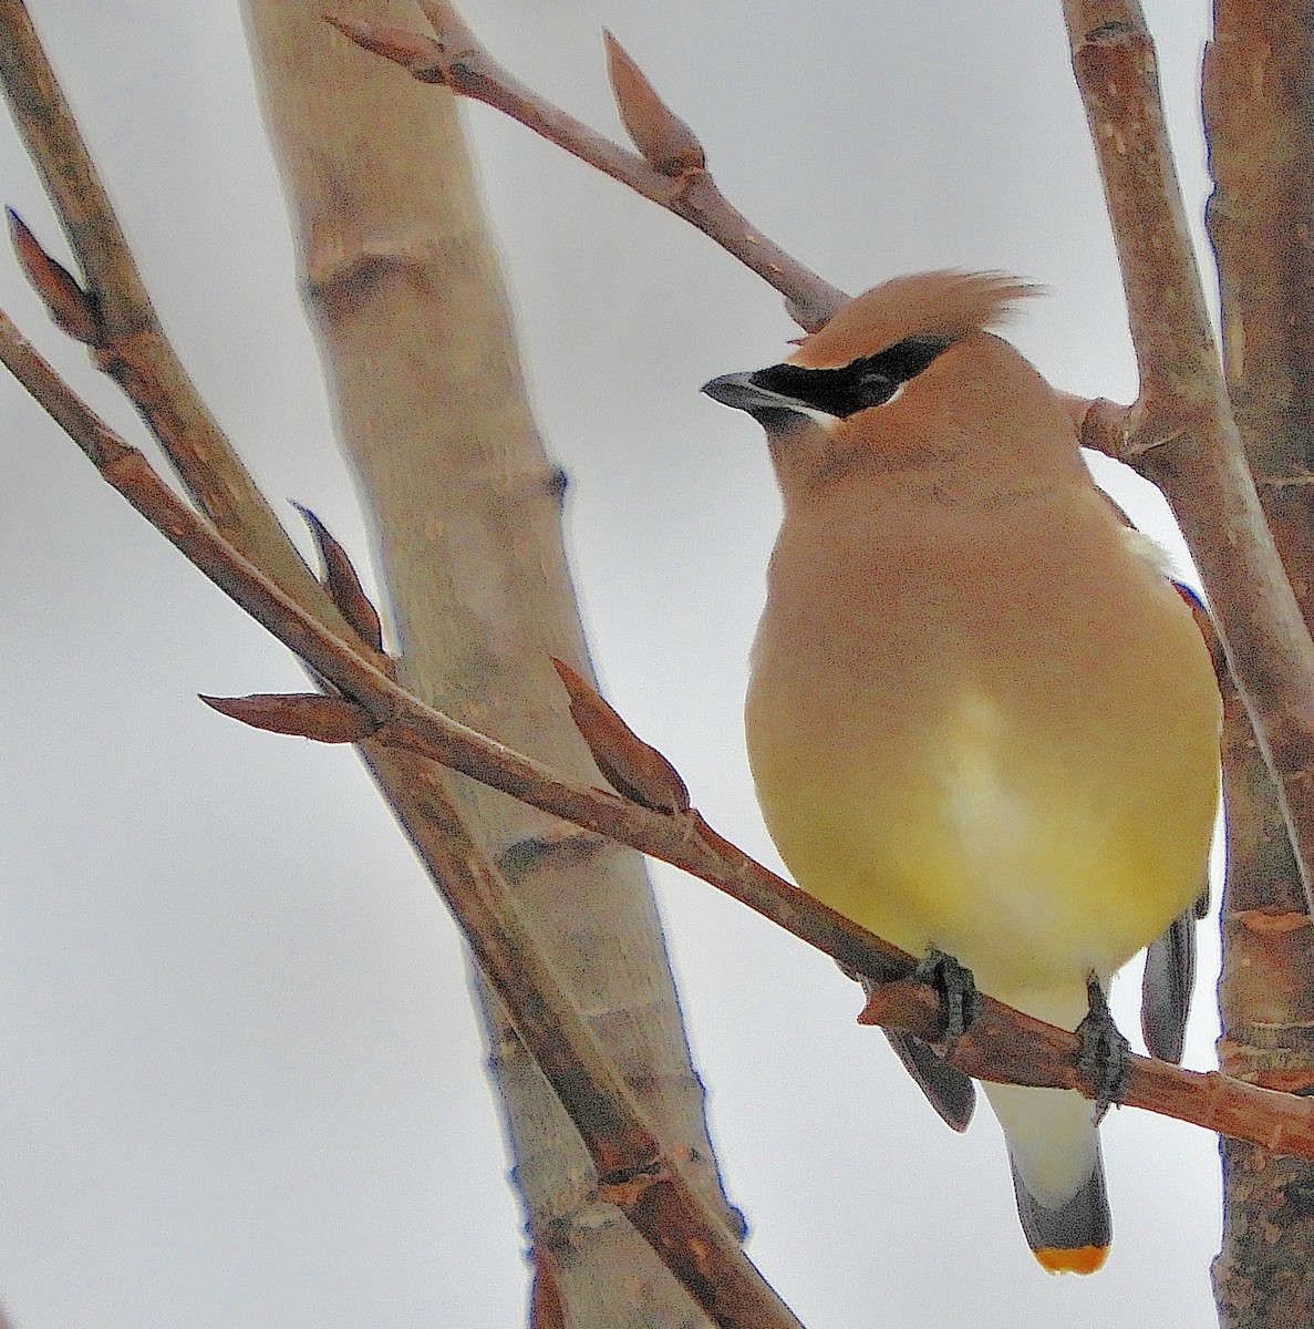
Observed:
[[[1107,987],[1200,896],[1220,700],[1059,396],[986,331],[1030,291],[901,278],[704,391],[767,431],[784,500],[745,710],[781,856],[878,936],[1074,1029],[1088,977]],[[1095,1104],[985,1091],[1036,1259],[1093,1272]]]

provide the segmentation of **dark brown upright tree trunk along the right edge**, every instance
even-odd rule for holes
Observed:
[[[1265,516],[1314,622],[1314,31],[1309,0],[1216,0],[1204,70],[1209,234],[1228,392]],[[1228,892],[1220,1063],[1314,1092],[1314,930],[1277,792],[1236,698],[1224,740]],[[1222,1140],[1225,1329],[1314,1320],[1314,1168]]]

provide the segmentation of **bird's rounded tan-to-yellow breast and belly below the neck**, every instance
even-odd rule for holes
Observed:
[[[1111,971],[1198,889],[1208,655],[1099,521],[1066,548],[950,525],[783,532],[747,707],[764,816],[804,889],[987,990]]]

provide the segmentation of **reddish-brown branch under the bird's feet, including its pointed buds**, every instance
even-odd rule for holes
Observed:
[[[430,4],[430,17],[440,8],[446,13],[445,5]],[[462,32],[466,31],[462,28]],[[450,37],[446,40],[450,44]],[[458,68],[476,68],[476,45],[462,39],[461,49],[460,65],[449,66],[453,74]],[[574,142],[574,148],[579,146]],[[651,170],[647,163],[643,165]],[[744,230],[755,234],[747,226]],[[39,286],[52,290],[52,304],[66,302],[68,283],[53,267],[31,254],[27,262],[37,271]],[[798,271],[797,266],[793,271]],[[102,300],[100,291],[96,299]],[[77,303],[76,295],[73,303]],[[66,310],[64,318],[69,319]],[[599,755],[605,772],[616,776],[618,787],[627,791],[628,797],[562,779],[424,706],[397,686],[391,676],[391,662],[372,642],[367,643],[356,631],[349,631],[349,639],[339,635],[347,623],[339,630],[324,626],[182,502],[155,476],[145,457],[118,439],[57,377],[7,319],[0,319],[0,359],[147,520],[340,694],[329,698],[210,699],[210,704],[247,723],[264,723],[310,738],[323,735],[323,740],[328,742],[383,744],[450,766],[567,821],[634,845],[711,881],[873,983],[890,983],[910,975],[911,957],[798,892],[708,827],[688,807],[687,791],[670,763],[634,739],[601,698],[590,698],[577,688],[573,708],[579,707],[581,714],[589,716],[583,724],[586,738]],[[157,387],[165,395],[166,383],[161,381]],[[1097,403],[1087,416],[1093,415],[1096,427],[1108,431],[1115,423],[1125,423],[1119,420],[1117,409]],[[175,441],[167,431],[165,437]],[[189,459],[194,480],[206,492],[214,481],[203,469],[195,469],[201,460]],[[320,548],[326,552],[326,563],[331,562],[328,550],[332,546],[322,540]],[[332,577],[327,579],[332,581]],[[351,579],[348,577],[345,583]],[[335,593],[339,599],[344,594],[351,598],[355,593]],[[336,603],[332,609],[339,613]],[[363,610],[352,613],[361,625],[369,618]],[[365,631],[364,635],[371,634]],[[1297,772],[1290,773],[1295,779]],[[938,1003],[919,985],[897,983],[886,990],[881,1001],[889,1023],[919,1037],[937,1037]],[[1075,1053],[1072,1034],[1040,1025],[983,998],[977,1025],[958,1041],[951,1059],[977,1078],[1078,1087]],[[1205,1079],[1210,1080],[1208,1103],[1201,1096]],[[1125,1100],[1314,1156],[1314,1103],[1306,1100],[1225,1078],[1200,1076],[1144,1058],[1133,1059]]]

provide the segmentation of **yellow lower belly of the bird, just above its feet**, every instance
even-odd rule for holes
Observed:
[[[1055,726],[1015,704],[1026,691],[905,698],[911,715],[877,695],[832,734],[749,704],[763,812],[798,884],[1022,1006],[1119,969],[1192,902],[1217,803],[1208,711],[1131,702],[1132,734],[1078,688]]]

